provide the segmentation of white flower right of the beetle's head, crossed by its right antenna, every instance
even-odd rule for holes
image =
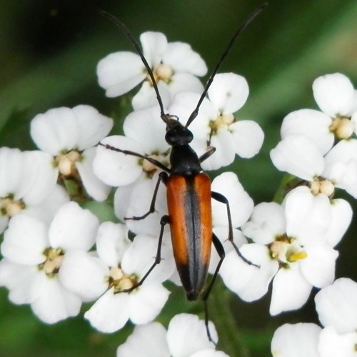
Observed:
[[[207,142],[216,148],[216,152],[203,161],[203,169],[227,166],[233,162],[235,154],[243,158],[258,154],[264,139],[261,127],[255,121],[237,120],[233,115],[248,98],[246,79],[233,73],[216,74],[208,89],[208,98],[203,100],[198,116],[190,126],[194,134],[192,146],[199,154],[207,149]],[[198,94],[179,93],[169,112],[185,123],[198,99]]]

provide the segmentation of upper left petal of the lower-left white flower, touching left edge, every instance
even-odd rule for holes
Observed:
[[[36,265],[45,261],[44,250],[48,246],[46,224],[22,213],[11,219],[1,254],[14,263]]]

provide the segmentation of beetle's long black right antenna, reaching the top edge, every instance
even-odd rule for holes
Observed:
[[[206,87],[203,91],[203,93],[201,94],[200,99],[198,100],[196,109],[191,113],[190,117],[188,118],[188,121],[186,123],[186,128],[192,123],[192,121],[196,118],[196,116],[198,115],[198,110],[202,104],[203,99],[205,98],[209,87],[211,86],[214,76],[216,76],[218,69],[221,67],[221,64],[223,62],[223,60],[226,58],[228,51],[231,49],[231,47],[233,46],[234,41],[236,41],[236,39],[238,39],[238,37],[243,33],[243,31],[248,27],[248,25],[251,23],[251,21],[253,21],[253,19],[256,18],[256,16],[258,16],[258,14],[261,13],[261,11],[263,11],[264,9],[266,9],[266,6],[268,6],[268,2],[265,2],[263,5],[259,6],[257,9],[255,9],[246,19],[246,21],[243,22],[243,24],[241,24],[241,26],[239,27],[239,29],[236,31],[236,33],[233,35],[233,37],[231,38],[231,41],[229,41],[228,46],[226,46],[226,50],[223,52],[221,58],[219,59],[218,63],[216,64],[216,67],[213,69],[211,75],[208,78],[208,81],[206,83]]]

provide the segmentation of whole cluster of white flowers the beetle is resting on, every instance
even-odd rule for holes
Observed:
[[[185,125],[200,100],[204,87],[197,77],[206,74],[206,64],[191,46],[170,43],[161,33],[142,34],[141,45],[165,114]],[[124,135],[108,136],[113,121],[91,106],[62,107],[31,121],[39,150],[0,149],[0,286],[9,289],[11,302],[29,304],[45,323],[76,316],[82,303],[91,303],[84,318],[98,331],[113,333],[128,321],[139,325],[117,356],[158,356],[158,349],[160,356],[226,356],[207,338],[209,328],[212,340],[218,340],[213,324],[205,326],[196,316],[175,316],[167,331],[151,322],[169,299],[163,283],[180,284],[168,229],[158,248],[161,217],[168,214],[159,175],[170,165],[171,146],[152,76],[138,54],[110,54],[99,62],[97,74],[110,97],[141,84]],[[294,176],[283,199],[254,206],[238,176],[224,172],[213,179],[211,190],[225,196],[229,208],[212,200],[212,228],[226,253],[219,275],[231,291],[254,301],[273,281],[270,312],[276,315],[303,306],[313,286],[322,288],[316,306],[325,332],[313,326],[311,338],[330,336],[347,345],[356,326],[341,327],[337,318],[326,318],[323,301],[333,299],[328,289],[335,278],[335,247],[352,218],[349,203],[334,197],[336,188],[357,198],[357,101],[341,74],[316,79],[313,93],[321,111],[286,116],[282,139],[271,151],[276,168]],[[202,169],[221,169],[236,154],[251,158],[260,151],[261,127],[236,113],[247,99],[246,79],[216,74],[189,126],[190,145],[205,158]],[[207,155],[212,147],[216,151]],[[116,218],[101,221],[88,209],[93,200],[113,203]],[[214,246],[212,252],[209,273],[219,264]],[[286,333],[281,331],[272,345],[276,354]]]

